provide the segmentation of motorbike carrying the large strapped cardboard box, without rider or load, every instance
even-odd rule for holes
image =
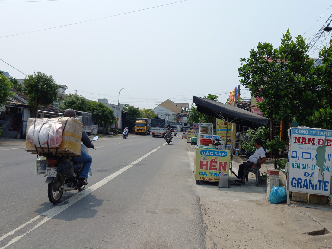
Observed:
[[[99,137],[95,136],[92,141],[96,141],[98,139]],[[81,146],[84,146],[84,144],[81,144]],[[87,147],[85,148],[87,152]],[[65,155],[62,155],[62,157],[54,155],[46,156],[46,162],[47,166],[44,176],[47,177],[45,183],[48,184],[47,195],[48,200],[51,203],[58,203],[63,195],[63,192],[72,190],[82,191],[85,188],[85,185],[78,181],[83,163],[74,162],[73,157]],[[60,174],[58,172],[58,168],[62,167],[63,164],[68,163],[70,165],[69,168],[71,168],[73,172],[69,175]],[[91,169],[88,174],[88,177],[89,176],[92,176]],[[87,181],[87,178],[84,180]]]

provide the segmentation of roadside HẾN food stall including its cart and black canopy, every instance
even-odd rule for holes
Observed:
[[[269,122],[269,119],[265,117],[217,101],[194,96],[193,102],[198,112],[224,121],[226,129],[231,123],[254,128]],[[229,172],[237,177],[232,170],[233,148],[230,146],[230,149],[225,149],[225,145],[228,145],[226,144],[227,130],[226,136],[221,139],[220,136],[213,135],[213,124],[199,123],[198,125],[194,162],[196,183],[200,184],[201,180],[218,182],[220,174],[227,175],[229,179]]]

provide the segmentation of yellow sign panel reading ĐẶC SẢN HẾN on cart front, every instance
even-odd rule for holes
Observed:
[[[211,150],[196,148],[195,150],[195,180],[219,181],[219,173],[229,177],[229,150]]]

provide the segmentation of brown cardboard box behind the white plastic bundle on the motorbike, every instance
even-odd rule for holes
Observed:
[[[62,123],[62,140],[58,147],[50,148],[46,145],[38,146],[36,143],[34,145],[28,141],[28,131],[31,128],[35,128],[36,122],[47,122],[54,121]],[[33,127],[32,127],[33,126]],[[31,152],[31,154],[46,155],[48,153],[58,153],[66,154],[68,156],[79,156],[81,155],[81,138],[83,124],[75,118],[52,118],[52,119],[28,119],[27,123],[27,141],[26,141],[26,151]],[[31,132],[31,130],[30,130]]]

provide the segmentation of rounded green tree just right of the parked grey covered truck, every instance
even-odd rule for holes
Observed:
[[[113,114],[113,110],[105,106],[103,103],[96,101],[88,102],[88,112],[92,113],[92,120],[96,124],[115,124],[117,119]]]

